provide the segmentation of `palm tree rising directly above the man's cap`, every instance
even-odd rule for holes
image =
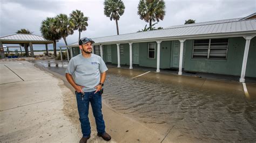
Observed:
[[[78,38],[78,41],[79,41],[81,32],[85,31],[86,26],[88,26],[88,23],[87,23],[88,17],[84,17],[84,13],[81,12],[80,10],[72,11],[72,13],[70,13],[69,16],[74,24],[73,30],[79,31],[79,38]]]

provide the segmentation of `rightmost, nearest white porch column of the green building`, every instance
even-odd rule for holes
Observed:
[[[247,58],[248,58],[248,52],[249,52],[249,47],[250,47],[250,41],[252,39],[251,36],[245,37],[246,43],[245,43],[245,52],[244,52],[244,59],[242,59],[242,70],[241,70],[241,77],[240,77],[240,82],[245,82],[245,70],[246,70],[246,63],[247,63]]]

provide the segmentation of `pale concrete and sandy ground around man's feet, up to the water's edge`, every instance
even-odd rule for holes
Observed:
[[[26,61],[0,62],[0,72],[0,142],[79,142],[76,98],[63,76]],[[149,127],[105,104],[103,115],[110,142],[170,142],[165,139],[169,132],[165,125]],[[106,142],[97,137],[91,110],[89,118],[88,142]]]

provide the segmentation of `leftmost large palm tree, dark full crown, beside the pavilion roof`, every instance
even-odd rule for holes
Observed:
[[[42,25],[40,27],[40,31],[43,37],[46,40],[53,41],[53,51],[54,51],[55,57],[57,56],[56,41],[58,41],[61,38],[59,32],[57,31],[56,23],[57,23],[56,18],[48,17],[45,20],[43,20]]]

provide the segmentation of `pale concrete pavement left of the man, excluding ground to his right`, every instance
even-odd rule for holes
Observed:
[[[0,142],[79,141],[63,112],[63,81],[29,62],[1,62],[0,72]]]

